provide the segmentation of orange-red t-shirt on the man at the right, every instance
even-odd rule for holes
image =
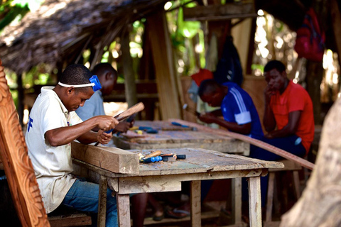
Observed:
[[[270,106],[274,113],[278,130],[281,130],[288,124],[290,112],[301,111],[295,134],[301,137],[302,145],[308,153],[315,131],[313,102],[308,92],[300,84],[294,84],[290,81],[283,94],[276,92],[276,94],[271,96]]]

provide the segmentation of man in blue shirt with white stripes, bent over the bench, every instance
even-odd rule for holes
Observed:
[[[254,102],[237,84],[233,82],[218,84],[213,79],[206,79],[201,82],[198,94],[200,99],[210,106],[221,107],[216,111],[200,114],[200,121],[217,123],[229,131],[249,135],[251,138],[263,137]]]

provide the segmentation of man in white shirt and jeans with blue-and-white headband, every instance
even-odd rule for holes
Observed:
[[[80,211],[97,213],[99,186],[72,175],[71,145],[108,143],[105,133],[119,122],[112,116],[95,116],[82,121],[75,110],[100,88],[96,77],[83,65],[70,65],[55,87],[43,87],[33,104],[26,133],[28,155],[36,173],[40,194],[47,213],[60,204]],[[92,128],[99,128],[97,133]],[[117,202],[107,190],[106,226],[118,226]]]

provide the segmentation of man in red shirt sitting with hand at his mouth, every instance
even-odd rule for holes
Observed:
[[[268,62],[264,67],[264,77],[268,83],[264,91],[263,123],[268,132],[264,135],[264,142],[304,157],[314,138],[315,124],[310,96],[301,85],[288,79],[282,62]],[[262,160],[283,159],[258,148],[251,149],[250,157]]]

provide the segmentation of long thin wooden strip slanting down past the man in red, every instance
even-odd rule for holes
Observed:
[[[227,135],[229,137],[232,137],[232,138],[235,138],[235,139],[238,139],[238,140],[243,140],[244,142],[250,143],[252,145],[256,145],[259,148],[263,148],[264,150],[268,150],[271,153],[274,153],[274,154],[279,155],[281,157],[284,157],[284,158],[286,158],[288,160],[296,162],[299,165],[302,165],[303,167],[308,168],[309,170],[313,170],[313,168],[315,166],[313,163],[308,162],[307,160],[303,159],[302,157],[298,157],[296,155],[288,153],[286,150],[282,150],[280,148],[276,148],[274,145],[270,145],[269,143],[265,143],[265,142],[263,142],[261,140],[256,140],[256,139],[251,138],[251,137],[249,137],[247,135],[242,135],[242,134],[239,134],[239,133],[233,133],[233,132],[230,132],[230,131],[224,131],[224,130],[221,130],[221,129],[209,128],[207,126],[202,126],[202,125],[200,125],[198,123],[183,121],[183,120],[180,120],[180,119],[169,119],[168,121],[175,121],[175,122],[181,123],[181,124],[183,124],[185,126],[196,127],[197,129],[202,130],[202,131],[207,131],[207,132],[210,132],[210,133],[216,133],[218,135]]]

